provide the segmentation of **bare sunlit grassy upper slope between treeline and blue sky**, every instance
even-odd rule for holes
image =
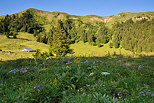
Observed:
[[[134,20],[138,20],[138,18],[142,17],[143,18],[147,17],[149,19],[154,18],[154,11],[138,12],[138,13],[122,12],[112,16],[101,17],[97,15],[78,16],[58,11],[43,11],[34,8],[29,8],[16,14],[20,15],[21,13],[24,13],[27,10],[30,10],[35,15],[35,19],[40,23],[50,23],[53,20],[69,18],[69,19],[81,19],[83,22],[105,22],[107,23],[107,25],[111,25],[114,24],[115,22],[126,21],[130,18]]]

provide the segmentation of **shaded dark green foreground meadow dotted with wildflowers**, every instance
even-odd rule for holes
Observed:
[[[66,57],[37,61],[37,64],[33,59],[0,62],[1,103],[154,102],[154,57]]]

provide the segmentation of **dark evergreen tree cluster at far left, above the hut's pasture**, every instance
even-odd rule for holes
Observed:
[[[5,34],[8,38],[16,38],[17,32],[28,32],[37,35],[43,28],[36,22],[32,13],[26,11],[21,15],[6,15],[0,20],[0,33]]]

